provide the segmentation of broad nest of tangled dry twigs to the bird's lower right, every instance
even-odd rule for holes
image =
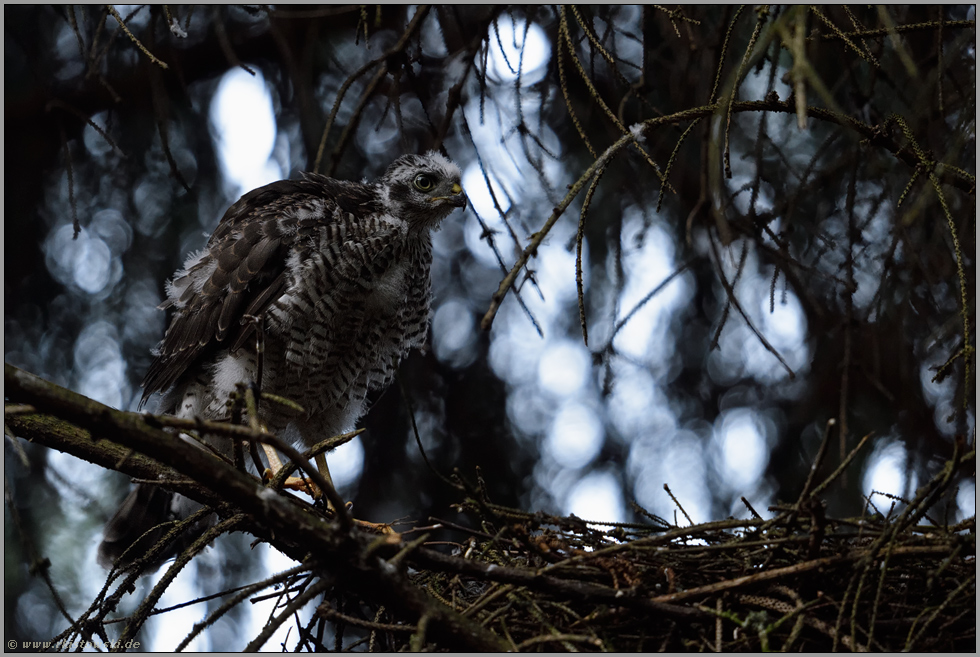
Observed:
[[[974,457],[961,452],[914,500],[886,514],[869,502],[857,518],[827,517],[805,489],[768,520],[746,502],[744,520],[679,526],[637,507],[651,524],[611,524],[495,506],[481,486],[459,507],[480,529],[445,523],[469,534],[454,555],[472,570],[412,579],[511,650],[973,650],[976,520],[929,512]],[[320,612],[371,650],[440,649],[424,622],[350,607]]]

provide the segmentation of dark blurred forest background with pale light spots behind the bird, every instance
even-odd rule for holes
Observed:
[[[359,517],[454,517],[413,411],[436,470],[613,521],[673,521],[664,484],[695,521],[764,513],[835,419],[828,469],[875,438],[830,513],[888,513],[975,439],[974,12],[5,6],[5,360],[135,410],[164,281],[238,196],[445,148],[471,204],[435,237],[431,348],[331,459]],[[43,638],[25,537],[84,608],[128,483],[5,445],[5,621]],[[226,538],[197,595],[270,567]]]

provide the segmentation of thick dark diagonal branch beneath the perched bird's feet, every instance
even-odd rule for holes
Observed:
[[[401,546],[397,535],[378,537],[356,529],[342,532],[335,523],[311,513],[310,507],[300,508],[286,494],[266,488],[257,479],[204,450],[155,428],[144,416],[109,408],[7,363],[4,384],[8,400],[30,404],[40,413],[63,418],[28,421],[36,416],[15,415],[8,418],[12,430],[32,426],[35,442],[46,444],[49,441],[43,427],[55,427],[58,437],[50,440],[52,446],[58,444],[66,453],[103,465],[111,463],[113,458],[123,465],[132,459],[138,465],[126,470],[129,473],[152,476],[162,468],[155,467],[150,459],[166,463],[170,473],[189,477],[204,489],[182,487],[181,492],[202,502],[211,499],[230,502],[252,517],[250,528],[257,529],[256,533],[266,535],[271,530],[274,538],[270,543],[293,559],[302,562],[313,557],[325,569],[341,574],[342,582],[356,588],[365,598],[375,599],[391,609],[428,616],[434,637],[441,638],[447,648],[506,650],[506,644],[497,636],[429,598],[402,571],[385,561],[385,557],[394,556]],[[85,431],[66,430],[70,426],[67,422]],[[93,441],[92,435],[103,440]],[[119,445],[108,447],[109,441]],[[128,450],[150,458],[122,459]]]

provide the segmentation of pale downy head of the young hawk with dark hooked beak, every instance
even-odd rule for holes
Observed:
[[[436,151],[404,155],[378,180],[388,211],[413,226],[434,228],[456,208],[466,207],[461,174]]]

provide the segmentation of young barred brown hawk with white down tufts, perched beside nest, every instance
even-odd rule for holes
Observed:
[[[304,174],[245,194],[167,284],[162,307],[173,314],[141,405],[162,393],[160,413],[228,419],[236,384],[256,380],[258,343],[261,390],[304,409],[262,404],[268,429],[307,446],[350,431],[367,393],[424,344],[431,231],[465,205],[459,168],[435,151],[398,158],[372,183]],[[138,485],[106,525],[99,561],[111,564],[175,506]]]

